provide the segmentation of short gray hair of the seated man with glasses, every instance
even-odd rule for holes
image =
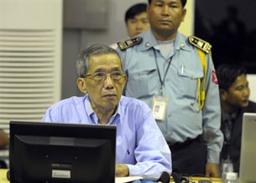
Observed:
[[[108,54],[113,53],[118,55],[120,58],[121,67],[123,70],[123,59],[121,55],[113,48],[108,47],[104,44],[92,44],[90,47],[81,51],[78,55],[78,59],[76,61],[76,71],[79,77],[85,78],[88,70],[90,69],[89,59],[93,55],[101,55],[101,54]]]

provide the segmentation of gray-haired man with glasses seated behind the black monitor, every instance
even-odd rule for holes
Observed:
[[[170,150],[151,109],[122,96],[127,80],[122,65],[119,53],[105,45],[83,50],[76,63],[77,85],[86,95],[52,105],[42,120],[117,125],[116,176],[140,175],[152,182],[164,171],[171,173]]]

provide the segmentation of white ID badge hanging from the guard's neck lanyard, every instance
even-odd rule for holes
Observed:
[[[152,112],[154,114],[154,119],[165,120],[168,100],[169,99],[167,97],[154,95],[152,104]]]

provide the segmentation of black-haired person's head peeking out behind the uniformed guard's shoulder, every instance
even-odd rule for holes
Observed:
[[[128,8],[125,13],[125,23],[130,38],[148,30],[149,18],[147,14],[147,4],[138,3]]]

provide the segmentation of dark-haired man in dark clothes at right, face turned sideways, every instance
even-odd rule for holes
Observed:
[[[227,169],[239,172],[243,113],[255,113],[256,104],[248,100],[250,89],[246,70],[242,67],[220,65],[217,68],[217,80],[222,106],[221,130],[224,135],[222,167],[224,165]]]

